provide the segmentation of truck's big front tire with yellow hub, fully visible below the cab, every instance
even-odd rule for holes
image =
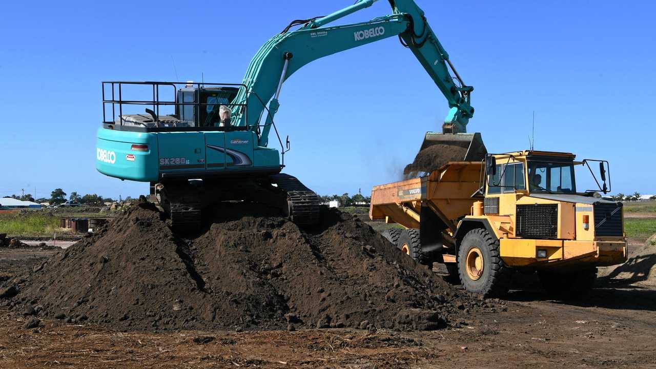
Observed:
[[[499,256],[499,240],[483,228],[467,232],[458,250],[458,274],[464,289],[498,297],[510,288],[510,269]]]

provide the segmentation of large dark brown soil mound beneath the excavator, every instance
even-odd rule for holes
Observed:
[[[453,290],[337,209],[323,207],[313,231],[251,204],[222,206],[213,221],[181,238],[153,204],[137,204],[14,278],[10,307],[119,330],[426,330],[489,303]]]

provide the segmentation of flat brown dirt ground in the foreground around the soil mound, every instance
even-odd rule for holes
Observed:
[[[3,274],[53,251],[1,250]],[[656,368],[656,288],[602,280],[590,297],[552,301],[532,278],[507,311],[432,332],[117,332],[26,318],[0,308],[0,368]]]

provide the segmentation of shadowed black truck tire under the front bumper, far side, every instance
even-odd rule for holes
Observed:
[[[597,269],[583,269],[576,272],[538,272],[540,282],[547,293],[554,297],[573,299],[581,297],[594,288]]]

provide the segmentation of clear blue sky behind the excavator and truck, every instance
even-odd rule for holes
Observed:
[[[8,1],[0,11],[0,196],[53,188],[135,196],[148,185],[95,165],[100,81],[239,83],[291,20],[332,1]],[[535,146],[611,163],[613,192],[656,193],[656,26],[652,1],[417,0],[474,86],[468,131],[490,152]],[[338,20],[389,14],[387,1]],[[396,37],[305,66],[283,87],[276,124],[287,173],[319,194],[395,181],[445,98]]]

